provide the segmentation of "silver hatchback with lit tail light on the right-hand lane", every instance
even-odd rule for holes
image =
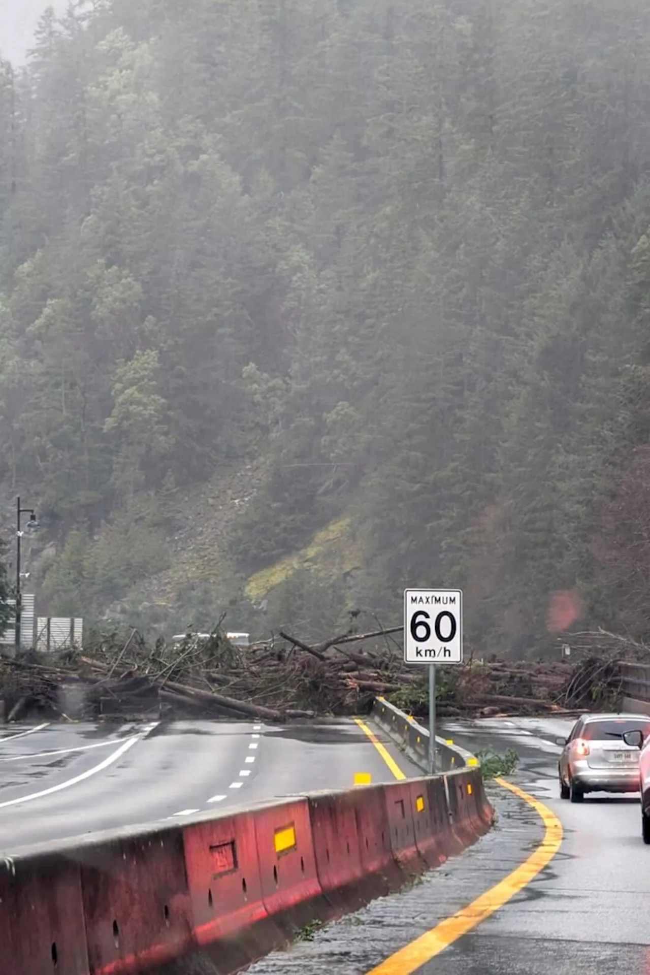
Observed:
[[[638,792],[638,748],[624,735],[650,733],[647,715],[582,715],[568,738],[557,738],[562,753],[557,764],[560,799],[581,802],[586,793]]]

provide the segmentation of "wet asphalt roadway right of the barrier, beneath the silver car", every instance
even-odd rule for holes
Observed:
[[[555,735],[572,722],[499,720],[448,726],[471,751],[514,747],[515,781],[559,818],[564,839],[531,884],[417,975],[650,975],[650,847],[638,800],[559,800]],[[249,969],[250,975],[364,975],[470,904],[523,862],[544,835],[537,812],[492,785],[497,828],[411,890],[369,904]],[[386,968],[382,975],[401,975]]]

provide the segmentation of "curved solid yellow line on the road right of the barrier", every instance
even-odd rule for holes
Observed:
[[[562,842],[562,826],[554,812],[543,802],[534,799],[522,789],[497,778],[496,782],[504,789],[510,789],[519,799],[528,802],[541,816],[546,831],[540,845],[530,854],[527,860],[501,880],[496,886],[486,890],[476,901],[468,907],[456,912],[451,917],[440,921],[431,931],[427,931],[420,938],[416,938],[410,945],[390,956],[381,964],[372,968],[366,975],[412,975],[421,965],[431,958],[440,955],[445,948],[457,941],[472,928],[480,924],[490,915],[503,907],[516,893],[537,877],[544,868],[551,863]]]

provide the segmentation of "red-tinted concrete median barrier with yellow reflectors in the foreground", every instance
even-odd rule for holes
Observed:
[[[240,971],[438,866],[490,820],[480,768],[465,765],[17,851],[0,860],[0,975],[131,975],[197,952]]]

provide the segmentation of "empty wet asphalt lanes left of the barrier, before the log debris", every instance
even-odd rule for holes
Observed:
[[[404,771],[417,774],[411,765]],[[348,721],[3,728],[0,855],[50,839],[348,788],[355,772],[369,772],[373,782],[393,778],[363,730]]]

